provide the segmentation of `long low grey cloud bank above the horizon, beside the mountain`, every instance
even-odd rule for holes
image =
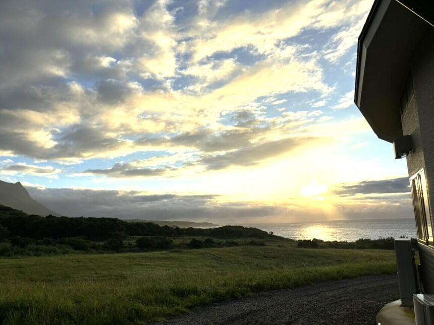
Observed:
[[[234,223],[276,214],[279,207],[219,203],[213,194],[149,194],[140,191],[27,187],[32,198],[71,216]],[[236,221],[235,221],[236,220]]]

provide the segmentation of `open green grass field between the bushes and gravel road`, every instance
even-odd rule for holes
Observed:
[[[396,272],[391,250],[294,245],[1,258],[0,322],[140,324],[259,291]]]

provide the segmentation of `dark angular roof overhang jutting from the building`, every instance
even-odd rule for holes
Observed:
[[[429,27],[397,0],[376,0],[368,15],[358,40],[354,102],[380,139],[402,136],[401,92],[413,51]]]

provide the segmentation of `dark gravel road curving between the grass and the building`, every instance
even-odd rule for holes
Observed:
[[[370,276],[214,303],[157,324],[374,325],[376,313],[396,299],[399,299],[396,275]]]

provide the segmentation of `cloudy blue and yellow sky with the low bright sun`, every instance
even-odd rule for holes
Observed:
[[[0,2],[0,179],[68,216],[411,217],[353,103],[372,0]]]

